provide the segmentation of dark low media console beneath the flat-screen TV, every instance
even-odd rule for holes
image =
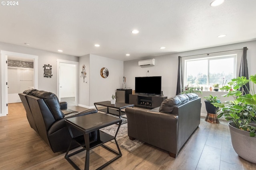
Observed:
[[[139,94],[130,94],[129,95],[129,104],[134,104],[136,106],[144,107],[159,107],[161,103],[166,100],[166,96],[144,96]]]

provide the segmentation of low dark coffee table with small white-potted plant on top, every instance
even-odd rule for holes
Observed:
[[[109,108],[117,109],[118,113],[119,113],[119,118],[121,116],[122,109],[124,109],[126,107],[134,107],[133,104],[118,103],[118,102],[116,102],[115,104],[111,104],[110,101],[104,101],[104,102],[96,102],[96,103],[94,103],[94,106],[96,107],[97,110],[99,110],[99,109],[97,108],[96,105],[107,107],[106,113],[110,113],[109,112]],[[110,114],[112,114],[112,113],[110,113]]]

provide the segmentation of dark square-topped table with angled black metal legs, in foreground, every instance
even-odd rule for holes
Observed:
[[[66,119],[65,121],[66,121],[66,124],[68,127],[68,131],[70,132],[70,135],[72,137],[70,146],[71,146],[72,142],[76,142],[76,143],[78,143],[78,145],[80,145],[82,147],[82,149],[77,150],[71,154],[68,154],[68,152],[70,151],[70,146],[69,146],[68,150],[66,152],[66,155],[65,155],[66,160],[68,160],[68,162],[76,170],[80,170],[80,168],[69,157],[73,156],[79,152],[82,152],[84,150],[86,150],[85,165],[84,165],[85,170],[89,170],[90,149],[93,149],[95,147],[102,146],[105,149],[107,149],[110,152],[117,155],[110,161],[106,162],[105,164],[103,164],[102,166],[97,168],[97,170],[103,169],[108,164],[114,162],[114,160],[116,160],[122,156],[121,150],[116,141],[116,135],[117,135],[120,125],[122,123],[122,119],[114,117],[114,116],[106,115],[103,113],[92,113],[89,115],[83,115],[83,116],[79,116],[79,117],[69,118],[69,119]],[[113,125],[116,123],[118,123],[118,128],[116,130],[116,135],[114,137],[99,130],[103,127],[107,127],[107,126],[110,126],[110,125]],[[78,129],[79,131],[81,131],[83,133],[83,135],[74,137],[70,127],[74,127],[76,129]],[[96,142],[90,143],[89,142],[89,133],[92,131],[98,131],[99,135],[98,135],[98,139]],[[116,142],[116,147],[118,149],[118,152],[116,150],[111,149],[110,147],[104,145],[104,143],[109,142],[113,139]]]

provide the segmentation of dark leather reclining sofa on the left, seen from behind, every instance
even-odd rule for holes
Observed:
[[[51,92],[36,89],[25,90],[19,94],[26,110],[30,127],[49,145],[53,152],[66,151],[70,145],[71,137],[66,127],[65,119],[96,113],[89,109],[82,112],[67,109],[66,102],[59,102],[57,96]],[[82,135],[72,129],[74,136]],[[90,133],[90,143],[97,141],[98,131]],[[72,143],[72,148],[77,147]]]

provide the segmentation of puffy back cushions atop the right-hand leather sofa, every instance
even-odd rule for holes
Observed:
[[[164,112],[164,113],[172,113],[173,108],[175,106],[184,104],[184,103],[188,102],[189,100],[192,100],[197,97],[198,97],[198,95],[195,93],[178,94],[172,98],[164,100],[161,103],[161,106],[159,107],[159,111]]]

